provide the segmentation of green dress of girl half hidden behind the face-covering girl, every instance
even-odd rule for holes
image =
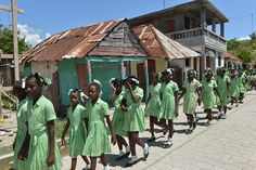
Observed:
[[[124,112],[120,109],[120,102],[123,100],[125,92],[121,92],[119,95],[115,95],[114,106],[115,110],[113,114],[112,125],[115,130],[115,133],[120,136],[127,136],[127,131],[123,129],[125,122]]]

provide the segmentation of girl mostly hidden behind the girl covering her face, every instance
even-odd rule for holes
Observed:
[[[124,136],[128,136],[127,131],[123,129],[125,119],[124,113],[120,109],[120,102],[124,96],[124,92],[121,91],[121,80],[114,78],[111,79],[111,87],[112,87],[112,95],[111,95],[111,103],[115,106],[115,110],[113,114],[112,125],[113,129],[116,133],[117,145],[119,148],[119,157],[117,159],[124,158],[129,156],[130,147]],[[125,146],[126,151],[123,152],[123,145]]]

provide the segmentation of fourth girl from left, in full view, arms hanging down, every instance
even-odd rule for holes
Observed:
[[[110,128],[112,134],[112,143],[116,143],[116,135],[114,133],[111,118],[108,115],[108,105],[100,99],[101,83],[98,80],[93,80],[89,84],[88,94],[90,101],[86,104],[86,118],[88,125],[88,136],[86,145],[82,151],[82,155],[90,156],[91,170],[95,170],[97,158],[100,157],[104,166],[104,170],[110,170],[107,165],[105,153],[111,152],[111,143],[105,127],[105,121]]]

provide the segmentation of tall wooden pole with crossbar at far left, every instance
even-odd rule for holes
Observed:
[[[14,76],[15,76],[15,81],[20,81],[18,45],[17,45],[17,13],[23,14],[24,11],[21,9],[16,9],[16,4],[17,4],[16,0],[11,0],[11,1],[12,1],[11,8],[0,4],[0,10],[12,12]]]

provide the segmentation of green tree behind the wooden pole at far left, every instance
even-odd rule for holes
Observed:
[[[20,35],[20,31],[17,32]],[[18,53],[27,51],[30,45],[25,42],[25,38],[17,38],[18,41]],[[10,27],[0,25],[0,49],[5,54],[13,53],[13,32]]]

